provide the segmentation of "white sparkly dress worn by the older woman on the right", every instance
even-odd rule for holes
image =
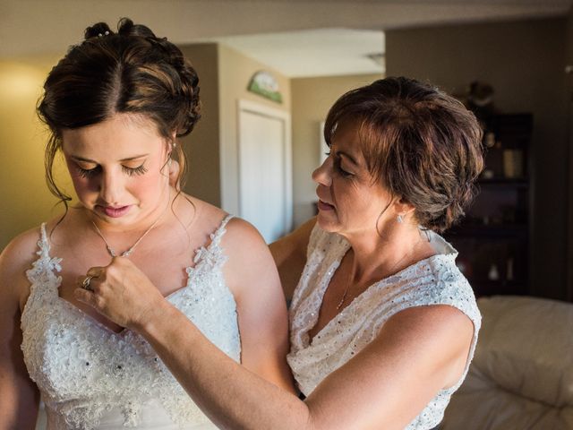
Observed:
[[[306,266],[290,308],[291,350],[287,357],[304,395],[374,340],[392,315],[413,306],[451,305],[474,323],[464,375],[453,387],[439,391],[406,429],[431,429],[440,423],[450,396],[465,379],[474,357],[481,315],[472,288],[456,267],[458,253],[441,236],[431,232],[430,238],[438,254],[372,284],[311,340],[308,331],[318,321],[322,297],[350,247],[342,236],[318,226],[312,230]]]

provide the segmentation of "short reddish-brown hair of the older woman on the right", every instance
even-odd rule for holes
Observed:
[[[464,215],[483,169],[483,131],[460,101],[412,79],[386,78],[346,92],[330,108],[329,145],[346,122],[359,126],[374,180],[412,204],[423,228],[442,232]]]

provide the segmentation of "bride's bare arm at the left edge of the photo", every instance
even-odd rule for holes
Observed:
[[[21,352],[21,305],[30,287],[30,267],[38,231],[14,239],[0,254],[0,429],[33,429],[39,394]]]

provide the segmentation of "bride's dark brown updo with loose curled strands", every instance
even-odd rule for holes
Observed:
[[[85,39],[48,74],[38,116],[48,125],[45,166],[47,185],[67,208],[70,197],[53,177],[53,164],[62,148],[62,130],[98,124],[119,113],[141,115],[173,141],[191,133],[200,115],[199,78],[181,50],[148,27],[127,18],[117,32],[105,22],[85,30]],[[172,142],[175,143],[175,142]],[[184,150],[172,145],[184,176]]]

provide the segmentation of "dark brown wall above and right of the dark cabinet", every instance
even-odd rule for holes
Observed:
[[[502,112],[533,112],[532,293],[564,298],[567,267],[565,19],[465,24],[386,32],[388,75],[447,91],[490,83]]]

